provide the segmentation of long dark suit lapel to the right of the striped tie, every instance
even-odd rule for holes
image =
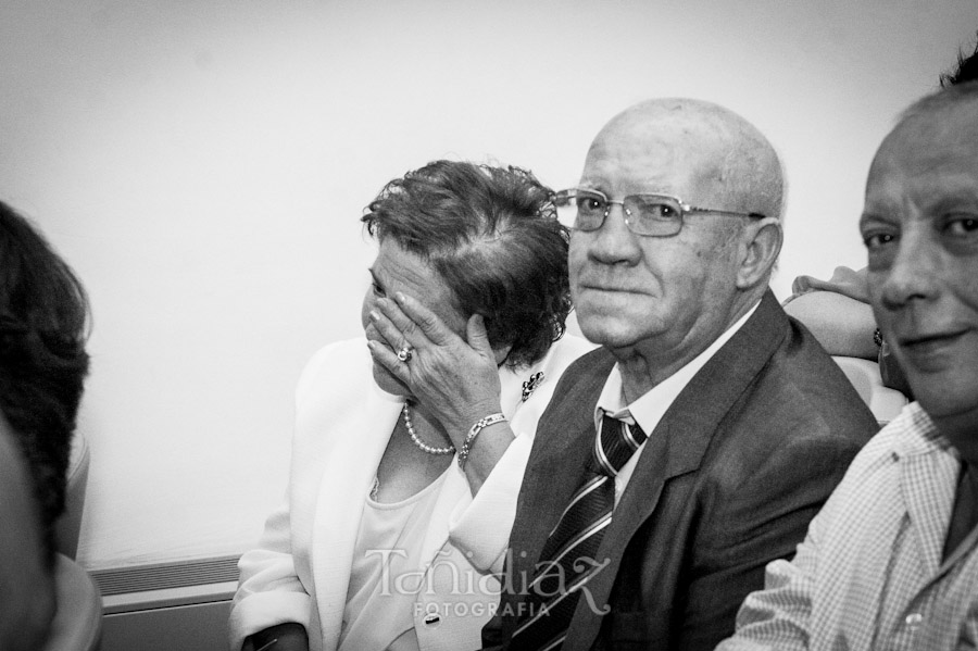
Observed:
[[[599,609],[611,596],[625,547],[655,511],[666,483],[700,467],[720,422],[781,345],[786,330],[787,317],[768,290],[754,314],[693,376],[649,436],[598,553],[609,565],[588,584]],[[568,650],[590,648],[601,627],[600,616],[588,599],[578,602]]]

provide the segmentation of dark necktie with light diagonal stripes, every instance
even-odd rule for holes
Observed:
[[[615,475],[645,438],[638,425],[602,418],[584,486],[543,546],[510,649],[549,651],[564,643],[581,588],[605,565],[597,554],[615,508]]]

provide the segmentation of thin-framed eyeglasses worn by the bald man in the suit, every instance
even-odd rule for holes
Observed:
[[[761,213],[738,213],[729,210],[695,208],[672,195],[629,195],[612,201],[598,190],[574,188],[561,190],[553,197],[557,220],[568,228],[598,230],[615,203],[625,212],[625,225],[636,235],[669,237],[682,229],[682,218],[690,213],[711,213],[730,217],[763,220]]]

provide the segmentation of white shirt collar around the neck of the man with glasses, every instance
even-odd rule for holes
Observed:
[[[652,434],[652,430],[659,425],[659,421],[662,420],[673,401],[682,392],[689,380],[743,327],[743,324],[748,322],[760,304],[761,301],[754,303],[753,308],[748,310],[734,325],[724,330],[706,350],[687,362],[676,373],[652,387],[631,404],[625,403],[622,371],[618,364],[615,364],[604,383],[604,388],[601,390],[601,396],[598,398],[598,404],[594,408],[594,428],[598,428],[601,418],[606,413],[613,418],[618,418],[629,424],[638,423],[642,431],[647,435]]]

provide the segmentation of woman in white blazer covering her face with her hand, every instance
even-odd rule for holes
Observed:
[[[591,348],[562,338],[550,195],[518,168],[437,161],[371,203],[366,337],[299,381],[289,488],[240,560],[233,650],[480,647],[537,421]]]

